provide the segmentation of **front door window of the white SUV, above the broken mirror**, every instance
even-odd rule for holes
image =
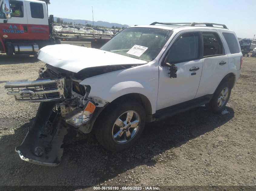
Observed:
[[[165,62],[178,63],[199,58],[199,33],[184,33],[171,46]]]

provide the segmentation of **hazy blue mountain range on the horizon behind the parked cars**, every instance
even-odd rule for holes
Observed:
[[[57,17],[54,17],[53,19],[54,19],[54,21],[56,21]],[[63,22],[67,22],[67,23],[72,22],[73,24],[77,24],[77,25],[79,23],[80,24],[91,24],[92,25],[92,23],[93,23],[95,26],[98,25],[98,26],[108,27],[108,28],[111,28],[112,26],[120,27],[120,28],[129,27],[127,24],[109,23],[109,22],[105,22],[105,21],[94,21],[94,22],[92,22],[92,21],[81,20],[81,19],[68,19],[68,18],[60,18],[60,19],[63,20]],[[87,22],[87,23],[85,23],[85,22]]]

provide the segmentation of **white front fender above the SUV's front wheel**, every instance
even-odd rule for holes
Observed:
[[[151,64],[157,65],[157,62]],[[158,94],[158,67],[151,64],[93,76],[80,84],[91,87],[89,97],[100,97],[108,102],[130,93],[142,94],[150,101],[153,114]]]

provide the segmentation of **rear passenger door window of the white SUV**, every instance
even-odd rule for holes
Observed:
[[[204,56],[215,56],[223,54],[223,45],[221,40],[216,33],[204,33]]]

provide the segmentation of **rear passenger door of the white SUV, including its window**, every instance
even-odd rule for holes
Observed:
[[[196,97],[213,94],[229,71],[228,55],[224,43],[215,30],[201,31],[203,42],[203,72]]]

